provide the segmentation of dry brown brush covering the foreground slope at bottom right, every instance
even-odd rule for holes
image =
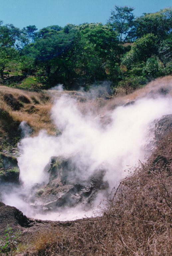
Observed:
[[[142,168],[121,182],[102,217],[75,221],[65,236],[40,235],[38,255],[171,255],[171,176]]]

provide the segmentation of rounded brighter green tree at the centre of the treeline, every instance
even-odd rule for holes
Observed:
[[[80,57],[77,58],[80,75],[92,82],[109,78],[118,50],[116,32],[101,23],[86,23],[78,27],[81,33]]]

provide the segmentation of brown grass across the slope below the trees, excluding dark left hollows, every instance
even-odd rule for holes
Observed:
[[[120,88],[117,90],[120,91]],[[86,95],[77,93],[76,91],[41,91],[31,92],[16,88],[0,86],[0,106],[1,109],[7,111],[14,122],[26,121],[33,128],[33,135],[38,134],[41,129],[46,129],[49,134],[56,134],[56,128],[51,122],[50,111],[55,99],[61,95],[68,93],[70,97],[75,98],[79,109],[83,114],[91,112],[94,117],[98,115],[108,115],[116,106],[123,105],[130,100],[136,100],[141,97],[155,97],[156,94],[172,95],[172,76],[158,78],[152,81],[142,89],[138,89],[129,95],[109,97],[97,97],[96,99],[88,99]],[[23,105],[18,110],[14,110],[4,100],[4,95],[11,94],[15,100]],[[28,103],[26,103],[28,101]],[[8,136],[1,125],[1,136]]]

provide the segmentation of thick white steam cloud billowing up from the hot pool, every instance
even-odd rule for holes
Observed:
[[[112,189],[126,175],[124,170],[128,165],[135,166],[138,159],[143,161],[150,153],[154,137],[152,121],[171,113],[171,97],[142,98],[134,104],[116,107],[108,113],[110,122],[102,126],[100,118],[89,112],[83,115],[77,101],[63,95],[52,109],[59,135],[54,137],[41,131],[36,137],[22,139],[18,146],[20,181],[27,191],[36,183],[48,182],[44,167],[50,157],[64,156],[72,157],[80,180],[104,166],[104,179]],[[21,209],[20,203],[17,206]]]

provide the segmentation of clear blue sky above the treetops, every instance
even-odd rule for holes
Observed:
[[[28,25],[41,29],[68,23],[105,24],[115,5],[134,7],[134,15],[140,16],[171,6],[172,0],[0,0],[0,20],[20,29]]]

